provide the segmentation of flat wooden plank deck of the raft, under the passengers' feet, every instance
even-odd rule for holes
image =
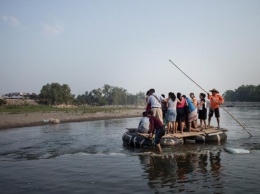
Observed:
[[[183,133],[173,133],[173,134],[165,134],[162,138],[184,138],[184,137],[194,137],[198,135],[207,135],[211,133],[218,133],[218,132],[226,132],[227,129],[221,128],[221,129],[216,129],[216,127],[210,127],[207,129],[204,129],[203,131],[199,132],[183,132]],[[147,133],[138,133],[139,135],[149,138],[149,134]]]

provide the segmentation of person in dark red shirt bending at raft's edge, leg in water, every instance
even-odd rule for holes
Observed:
[[[158,149],[158,151],[162,153],[160,140],[162,136],[165,135],[164,125],[160,119],[153,116],[153,111],[151,110],[147,112],[147,117],[149,118],[149,122],[150,122],[149,137],[152,138],[153,134],[155,133],[154,144]]]

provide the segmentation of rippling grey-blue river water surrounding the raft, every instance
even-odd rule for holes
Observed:
[[[221,110],[226,142],[167,147],[162,156],[123,145],[140,118],[1,130],[1,194],[259,193],[260,108],[226,109],[253,137]]]

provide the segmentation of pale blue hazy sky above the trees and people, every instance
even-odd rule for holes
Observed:
[[[0,94],[260,84],[259,0],[0,0]]]

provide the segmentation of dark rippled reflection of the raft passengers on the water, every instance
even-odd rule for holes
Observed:
[[[139,156],[150,188],[171,192],[223,188],[221,151],[160,156]]]

